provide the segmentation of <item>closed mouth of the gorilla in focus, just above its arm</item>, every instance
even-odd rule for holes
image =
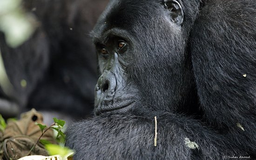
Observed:
[[[95,114],[100,115],[102,113],[124,113],[131,108],[133,108],[133,104],[135,101],[124,101],[124,102],[116,102],[110,105],[101,105],[95,109]],[[108,104],[108,103],[107,103]]]

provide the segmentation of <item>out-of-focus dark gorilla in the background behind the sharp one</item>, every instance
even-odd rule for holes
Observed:
[[[89,32],[107,2],[23,1],[39,27],[14,49],[0,33],[0,50],[13,88],[9,93],[0,89],[0,114],[13,117],[31,108],[76,119],[91,114],[97,66]]]

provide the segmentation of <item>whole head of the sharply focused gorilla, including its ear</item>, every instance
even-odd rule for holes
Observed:
[[[176,0],[109,3],[92,32],[101,74],[96,115],[191,105],[195,84],[185,50],[189,25],[183,19]]]

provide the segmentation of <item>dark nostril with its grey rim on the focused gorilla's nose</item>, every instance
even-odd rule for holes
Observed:
[[[107,75],[102,75],[98,80],[98,90],[101,90],[101,94],[113,94],[115,92],[115,75],[108,73]]]

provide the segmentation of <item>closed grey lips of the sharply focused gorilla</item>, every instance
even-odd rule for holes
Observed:
[[[128,110],[128,109],[131,109],[132,108],[132,104],[134,103],[135,101],[131,101],[131,102],[128,102],[124,105],[121,105],[121,106],[115,106],[113,107],[113,105],[100,105],[97,107],[97,109],[95,110],[95,114],[96,115],[100,115],[101,113],[105,113],[105,112],[112,112],[112,111],[116,111],[116,110],[120,110],[120,109],[124,109],[124,108],[127,108],[125,110]]]

